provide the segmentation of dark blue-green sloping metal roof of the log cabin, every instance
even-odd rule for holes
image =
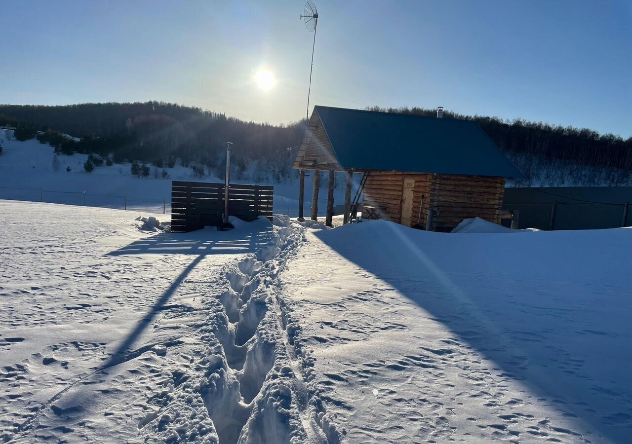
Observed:
[[[344,169],[522,177],[477,123],[315,106]]]

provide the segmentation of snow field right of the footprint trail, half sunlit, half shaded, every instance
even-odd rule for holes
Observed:
[[[346,442],[630,441],[632,229],[497,231],[308,231],[281,280]]]

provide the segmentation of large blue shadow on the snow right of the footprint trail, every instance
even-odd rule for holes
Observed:
[[[531,387],[534,399],[623,442],[632,282],[628,263],[608,256],[626,257],[632,230],[617,230],[444,234],[370,221],[315,236]],[[612,304],[620,309],[600,311]]]

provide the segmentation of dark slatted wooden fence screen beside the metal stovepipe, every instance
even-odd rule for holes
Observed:
[[[231,184],[228,214],[248,222],[259,216],[271,220],[273,200],[273,186]],[[223,213],[224,184],[171,183],[171,231],[189,232],[209,225],[221,225]]]

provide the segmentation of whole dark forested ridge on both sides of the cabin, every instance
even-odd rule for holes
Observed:
[[[370,109],[435,115],[434,109]],[[444,118],[477,121],[525,174],[527,184],[631,184],[632,138],[624,140],[585,128],[521,119],[503,121],[451,111],[445,111]],[[275,181],[291,176],[295,147],[305,128],[304,120],[275,126],[164,102],[0,105],[0,125],[3,124],[18,128],[18,138],[32,138],[35,131],[54,129],[83,139],[78,144],[61,141],[59,145],[66,143],[66,150],[62,150],[65,153],[112,153],[115,161],[162,162],[178,158],[183,165],[199,162],[209,168],[221,164],[223,144],[232,141],[241,170],[257,163],[258,176],[269,174]]]

